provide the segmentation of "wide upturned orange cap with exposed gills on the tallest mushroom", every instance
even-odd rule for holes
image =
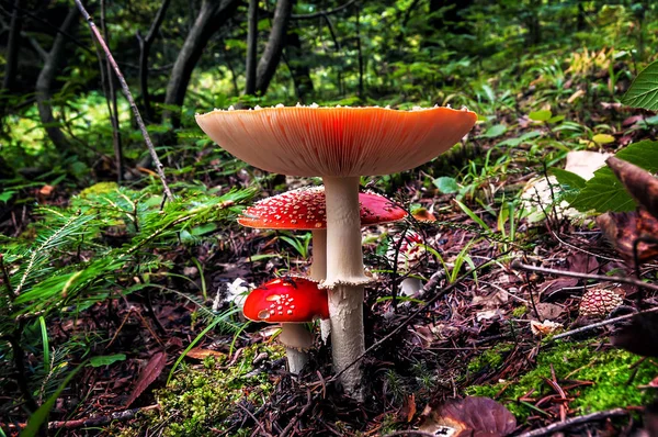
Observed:
[[[196,115],[201,128],[239,159],[293,176],[389,175],[454,146],[477,115],[450,108],[264,108]]]

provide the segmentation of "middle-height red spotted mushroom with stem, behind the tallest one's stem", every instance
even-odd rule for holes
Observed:
[[[383,195],[359,193],[361,225],[397,222],[407,212]],[[325,187],[299,188],[256,202],[242,211],[238,223],[258,229],[311,231],[313,264],[310,277],[324,281],[327,277],[327,212]],[[321,321],[322,341],[331,332],[330,321]]]

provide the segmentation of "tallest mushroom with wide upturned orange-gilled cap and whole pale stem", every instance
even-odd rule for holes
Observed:
[[[466,109],[257,108],[196,115],[201,128],[237,158],[266,171],[320,176],[327,199],[327,278],[334,371],[360,396],[363,270],[359,180],[424,164],[454,146],[475,124]]]

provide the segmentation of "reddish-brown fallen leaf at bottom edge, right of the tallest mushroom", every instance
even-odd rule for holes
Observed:
[[[507,436],[517,427],[508,408],[489,397],[452,399],[427,412],[420,430],[435,433],[447,426],[457,430],[456,437]]]

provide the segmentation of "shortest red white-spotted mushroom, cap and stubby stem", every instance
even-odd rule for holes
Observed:
[[[254,322],[281,323],[279,339],[285,346],[291,373],[298,374],[308,361],[313,335],[304,323],[329,318],[327,290],[304,278],[276,278],[254,289],[242,309]]]

